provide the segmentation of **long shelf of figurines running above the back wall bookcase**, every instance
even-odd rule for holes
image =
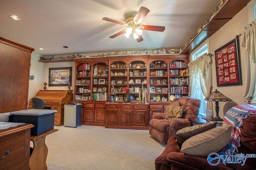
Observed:
[[[161,55],[179,55],[181,52],[180,50],[177,49],[171,49],[170,51],[167,51],[166,49],[162,49],[162,50],[154,50],[154,51],[134,51],[134,52],[129,52],[129,51],[125,51],[122,52],[122,54],[119,51],[116,51],[114,53],[107,53],[106,55],[104,55],[103,53],[101,55],[96,54],[96,55],[68,55],[68,56],[53,56],[52,57],[40,57],[39,62],[42,63],[58,63],[58,62],[76,62],[79,61],[81,59],[87,59],[87,58],[106,58],[106,57],[128,57],[128,56],[161,56]]]

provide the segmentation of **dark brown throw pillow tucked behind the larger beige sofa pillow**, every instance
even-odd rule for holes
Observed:
[[[210,123],[204,123],[200,125],[195,125],[195,126],[190,126],[190,127],[185,127],[183,129],[180,129],[176,132],[176,142],[178,145],[181,147],[182,143],[186,141],[188,138],[197,135],[199,133],[206,132],[210,129],[213,129],[216,127],[217,122],[212,121]]]

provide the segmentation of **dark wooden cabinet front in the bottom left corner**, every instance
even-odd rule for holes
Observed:
[[[17,132],[0,139],[0,157],[10,153],[0,160],[1,169],[12,169],[11,167],[24,160],[25,132]]]

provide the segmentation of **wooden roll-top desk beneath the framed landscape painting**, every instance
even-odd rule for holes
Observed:
[[[72,101],[72,90],[39,90],[34,97],[42,98],[47,109],[57,110],[54,115],[55,126],[64,124],[64,104]],[[28,109],[32,109],[31,99]]]

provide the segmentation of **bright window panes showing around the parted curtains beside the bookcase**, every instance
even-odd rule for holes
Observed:
[[[192,61],[204,53],[208,53],[208,44],[207,43],[202,44],[202,46],[200,46],[198,50],[196,50],[194,53],[192,53],[192,55],[191,55]],[[202,74],[202,73],[200,73],[200,74]],[[194,95],[191,97],[199,99],[201,101],[198,117],[206,117],[206,101],[204,100],[205,97],[202,94],[199,77],[196,78],[195,83],[196,83],[196,89],[195,89]]]

